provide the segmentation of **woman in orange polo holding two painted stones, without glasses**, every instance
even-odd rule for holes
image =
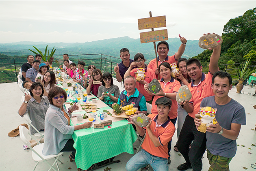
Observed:
[[[160,97],[168,97],[171,99],[172,101],[172,105],[171,105],[171,111],[169,111],[169,118],[171,120],[171,122],[175,125],[176,121],[177,121],[177,116],[178,116],[178,103],[176,101],[176,94],[178,92],[178,90],[180,89],[180,82],[177,81],[176,79],[174,79],[173,77],[171,77],[171,66],[169,63],[167,62],[163,62],[159,65],[158,67],[158,71],[162,77],[161,80],[158,80],[159,83],[161,84],[161,90],[160,92],[158,92],[157,94],[154,94],[154,99],[152,101],[152,104],[155,104],[156,100]],[[145,90],[148,92],[148,94],[152,94],[152,92],[150,92],[148,90],[148,83],[146,83],[144,85]],[[156,114],[157,113],[157,106],[156,105],[152,105],[152,109],[151,109],[151,113],[152,114]],[[171,150],[171,141],[168,143],[168,154]],[[169,154],[170,155],[170,154]],[[169,156],[170,158],[170,156]],[[168,158],[168,163],[171,162],[171,160]]]

